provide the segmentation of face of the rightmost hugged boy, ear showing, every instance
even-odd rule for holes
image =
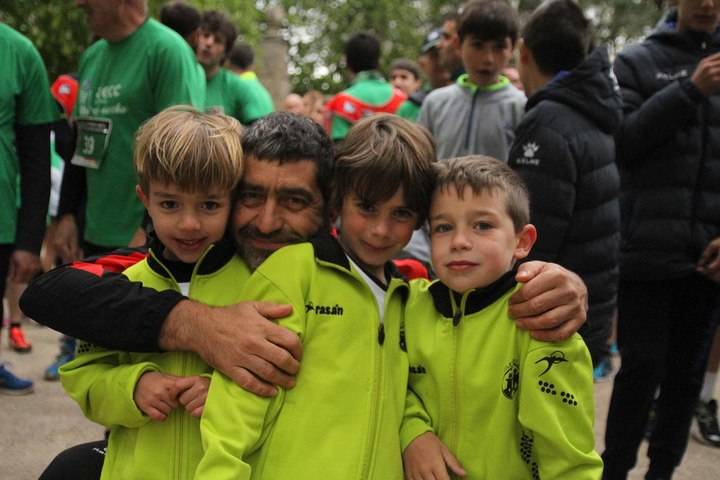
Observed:
[[[535,227],[516,233],[507,213],[505,195],[480,195],[465,187],[436,191],[430,207],[433,269],[456,292],[490,285],[527,256],[535,242]]]

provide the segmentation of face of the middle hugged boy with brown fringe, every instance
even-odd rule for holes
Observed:
[[[385,263],[410,241],[418,213],[406,205],[400,187],[392,198],[375,205],[355,193],[346,195],[340,218],[340,242],[356,262],[382,280]]]

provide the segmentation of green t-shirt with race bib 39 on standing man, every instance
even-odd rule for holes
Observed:
[[[74,161],[79,156],[99,161],[98,168],[86,169],[85,240],[124,246],[143,218],[135,194],[135,133],[145,120],[169,106],[202,108],[203,86],[195,55],[177,33],[149,19],[119,42],[95,42],[80,59],[78,79]],[[83,124],[91,133],[83,134]]]

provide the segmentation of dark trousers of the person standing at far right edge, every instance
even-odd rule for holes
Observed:
[[[670,478],[687,447],[711,343],[717,286],[693,274],[680,279],[621,281],[618,347],[622,358],[605,430],[605,479],[635,465],[648,412],[660,387],[646,478]]]

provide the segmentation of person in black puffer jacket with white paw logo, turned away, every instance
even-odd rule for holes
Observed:
[[[589,294],[580,334],[598,367],[610,356],[620,249],[613,133],[622,100],[606,48],[587,55],[590,23],[571,0],[540,6],[519,44],[529,98],[509,164],[531,194],[538,241],[528,258],[577,272]]]

